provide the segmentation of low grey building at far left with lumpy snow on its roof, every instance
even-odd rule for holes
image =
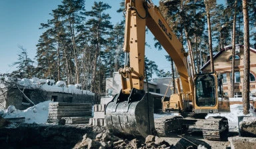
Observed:
[[[18,81],[17,86],[10,85],[10,82],[0,80],[0,109],[5,109],[10,105],[15,106],[19,110],[24,110],[29,106],[46,100],[53,102],[73,102],[73,103],[94,103],[95,94],[89,90],[81,90],[79,85],[65,86],[52,83],[31,82],[21,83]],[[21,85],[22,84],[22,85]]]

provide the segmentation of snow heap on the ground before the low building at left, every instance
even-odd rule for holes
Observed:
[[[9,106],[3,113],[3,118],[25,117],[25,123],[44,124],[47,122],[49,103],[51,100],[31,106],[26,110],[17,110],[15,106]]]

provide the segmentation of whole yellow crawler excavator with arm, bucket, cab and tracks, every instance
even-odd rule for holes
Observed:
[[[126,0],[125,9],[125,66],[119,69],[123,87],[105,108],[105,120],[111,132],[143,137],[149,134],[167,136],[197,121],[186,116],[230,111],[229,99],[223,94],[221,75],[205,73],[191,78],[187,53],[151,0]],[[177,93],[162,101],[163,112],[183,116],[164,116],[154,120],[153,98],[150,92],[143,90],[146,26],[173,59],[179,73]],[[203,120],[205,139],[221,140],[227,131],[225,117]]]

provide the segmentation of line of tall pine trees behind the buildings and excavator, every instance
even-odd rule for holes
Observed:
[[[123,13],[124,1],[120,0],[117,13]],[[41,23],[43,33],[37,44],[35,62],[27,57],[23,47],[13,74],[20,77],[50,78],[65,80],[67,84],[82,84],[83,89],[95,93],[105,92],[105,78],[123,67],[124,18],[113,25],[106,13],[111,6],[103,1],[94,2],[85,10],[84,0],[63,0],[50,13],[51,19]],[[250,40],[255,42],[256,2],[249,1]],[[241,1],[173,0],[159,1],[159,9],[185,50],[189,53],[192,75],[199,73],[201,66],[213,54],[230,45],[243,44],[243,6]],[[235,26],[234,26],[235,20]],[[210,29],[210,30],[209,30]],[[231,32],[232,31],[232,32]],[[231,34],[235,35],[231,37]],[[146,44],[147,45],[147,44]],[[251,45],[253,46],[253,45]],[[161,49],[155,43],[156,49]],[[155,62],[145,59],[146,75],[173,76],[175,68],[170,57],[172,72],[159,70]],[[214,70],[214,68],[213,68]]]

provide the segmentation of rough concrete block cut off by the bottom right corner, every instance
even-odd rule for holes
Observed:
[[[229,137],[228,140],[230,142],[231,149],[256,148],[256,138],[235,136],[235,137]]]

